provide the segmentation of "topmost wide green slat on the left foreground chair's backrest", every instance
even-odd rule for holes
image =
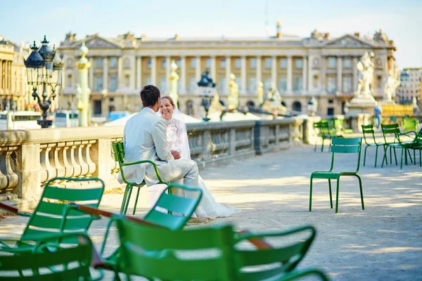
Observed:
[[[44,191],[44,197],[54,200],[85,201],[101,198],[103,188],[56,188],[49,187]]]

